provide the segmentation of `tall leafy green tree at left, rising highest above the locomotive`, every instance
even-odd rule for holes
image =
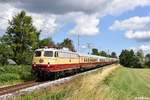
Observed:
[[[32,50],[38,47],[40,35],[32,24],[31,16],[27,16],[25,11],[13,16],[5,35],[8,37],[5,42],[13,51],[12,59],[17,64],[26,64],[25,59],[29,59],[26,55],[32,58]]]

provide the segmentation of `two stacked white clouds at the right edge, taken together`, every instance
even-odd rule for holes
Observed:
[[[149,25],[149,16],[135,16],[125,20],[116,20],[109,29],[125,31],[125,36],[128,39],[150,41],[150,31],[148,30]]]

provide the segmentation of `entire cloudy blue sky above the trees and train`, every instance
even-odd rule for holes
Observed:
[[[20,11],[32,16],[40,38],[55,42],[80,36],[80,52],[90,47],[116,52],[150,52],[150,0],[0,0],[0,36]]]

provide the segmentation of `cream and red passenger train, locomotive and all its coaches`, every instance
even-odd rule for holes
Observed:
[[[39,79],[52,78],[117,62],[117,58],[82,54],[68,49],[39,48],[33,56],[32,73]]]

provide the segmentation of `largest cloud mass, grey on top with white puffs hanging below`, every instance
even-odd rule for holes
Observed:
[[[72,33],[96,35],[99,33],[98,24],[101,17],[108,14],[120,14],[138,6],[150,5],[150,0],[0,0],[0,5],[10,6],[6,8],[0,6],[2,15],[9,13],[12,16],[14,14],[11,13],[12,9],[25,10],[31,15],[37,15],[33,17],[34,25],[42,29],[43,33],[54,33],[59,26],[73,22],[76,26],[71,29]],[[83,13],[85,18],[82,18],[83,15],[80,13]],[[95,13],[96,17],[90,17],[95,16]],[[4,17],[8,18],[7,16],[6,14]],[[4,29],[4,26],[6,27],[7,24],[2,23],[0,28]]]

